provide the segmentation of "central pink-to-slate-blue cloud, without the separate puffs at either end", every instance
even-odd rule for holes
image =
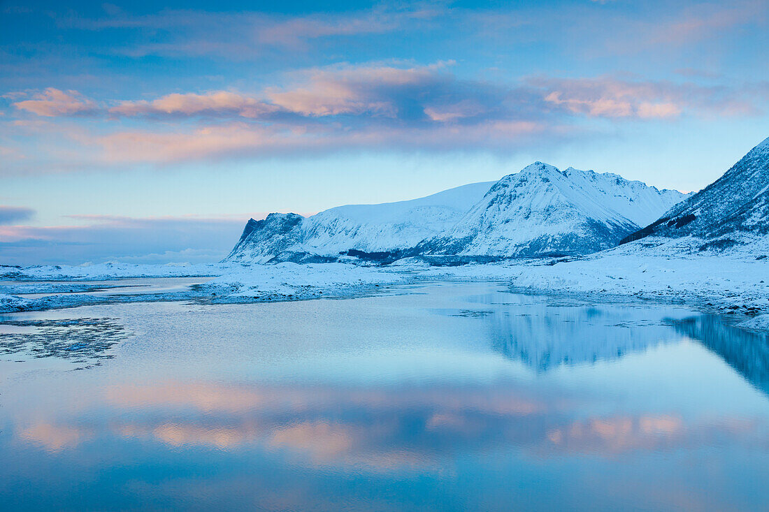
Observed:
[[[221,118],[267,118],[278,113],[305,118],[427,116],[448,121],[488,111],[491,104],[501,101],[502,88],[460,81],[443,72],[449,65],[451,62],[411,67],[335,65],[292,73],[291,85],[269,87],[255,95],[234,91],[171,94],[153,101],[122,101],[109,112]],[[484,108],[481,103],[488,105]]]

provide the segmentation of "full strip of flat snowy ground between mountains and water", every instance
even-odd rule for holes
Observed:
[[[674,301],[735,315],[744,327],[769,328],[769,258],[732,251],[701,253],[696,242],[627,244],[611,251],[568,259],[504,261],[431,267],[402,260],[388,267],[352,264],[208,264],[190,266],[102,264],[88,267],[32,267],[0,270],[0,312],[62,308],[103,301],[205,300],[285,301],[345,297],[385,285],[428,280],[500,281],[534,293],[591,295],[596,300],[639,298]],[[165,294],[60,294],[54,283],[105,279],[213,276],[188,291]],[[45,298],[13,294],[10,284],[35,281]],[[18,286],[16,287],[18,288]],[[28,290],[29,291],[29,290]]]

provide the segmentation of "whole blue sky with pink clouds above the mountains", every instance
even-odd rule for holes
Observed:
[[[218,261],[532,161],[698,190],[769,137],[767,48],[766,0],[0,0],[0,264]]]

